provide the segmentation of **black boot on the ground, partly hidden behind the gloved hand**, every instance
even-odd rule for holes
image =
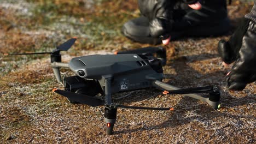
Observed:
[[[222,35],[229,31],[229,19],[225,0],[202,0],[202,9],[194,10],[187,4],[177,3],[173,9],[173,23],[171,39],[184,36],[211,36]],[[159,37],[152,37],[149,30],[149,21],[141,16],[126,22],[122,29],[123,34],[139,43],[160,44]]]

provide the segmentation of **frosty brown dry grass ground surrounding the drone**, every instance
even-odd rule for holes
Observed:
[[[92,53],[148,46],[120,33],[123,23],[139,15],[137,1],[5,1],[0,4],[0,52],[51,51],[78,36],[63,61]],[[91,5],[90,5],[91,4]],[[90,7],[89,7],[90,6]],[[235,2],[237,17],[252,4]],[[231,33],[231,32],[230,32]],[[114,135],[107,136],[103,107],[69,104],[51,92],[55,80],[49,56],[0,56],[0,141],[2,143],[255,143],[255,83],[242,92],[228,91],[216,45],[220,39],[189,38],[166,46],[167,83],[177,87],[217,85],[222,107],[216,111],[181,95],[141,90],[115,94],[115,102],[133,106],[173,106],[174,111],[118,110]],[[62,70],[62,75],[70,75]],[[124,97],[126,96],[126,97]],[[124,97],[124,98],[120,98]]]

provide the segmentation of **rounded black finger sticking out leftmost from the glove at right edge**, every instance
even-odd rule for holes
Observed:
[[[233,50],[231,49],[229,43],[225,40],[220,40],[218,44],[218,53],[219,56],[222,58],[222,61],[226,64],[230,64],[235,61],[235,55]]]

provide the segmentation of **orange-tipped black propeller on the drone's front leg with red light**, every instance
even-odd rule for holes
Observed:
[[[81,104],[89,105],[92,107],[96,106],[107,106],[104,104],[103,100],[90,97],[88,95],[77,94],[73,92],[63,91],[57,88],[53,89],[53,92],[62,95],[63,97],[68,98],[69,100],[76,101]],[[140,107],[140,106],[125,106],[125,105],[111,105],[112,107],[120,107],[123,109],[139,109],[139,110],[162,110],[162,111],[173,111],[172,107],[168,108],[159,108],[159,107]]]

